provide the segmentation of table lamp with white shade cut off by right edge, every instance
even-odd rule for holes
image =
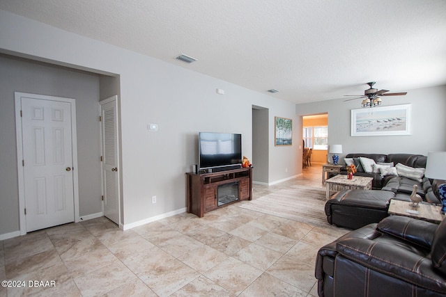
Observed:
[[[424,176],[430,179],[446,179],[446,152],[429,152],[427,154]],[[446,184],[438,186],[441,210],[446,212]]]

